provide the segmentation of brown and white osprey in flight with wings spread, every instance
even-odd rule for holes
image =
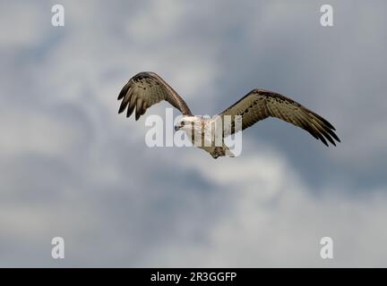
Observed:
[[[236,115],[242,117],[242,130],[267,117],[276,117],[308,131],[315,139],[320,139],[326,146],[328,146],[327,140],[334,146],[336,146],[334,140],[340,142],[339,137],[334,132],[335,128],[322,116],[315,114],[288,97],[262,88],[253,89],[234,105],[211,118],[193,115],[183,98],[154,72],[137,73],[125,84],[117,99],[122,100],[118,114],[121,114],[127,108],[126,117],[129,117],[135,109],[136,121],[142,114],[145,114],[151,105],[155,105],[161,100],[168,101],[170,105],[176,107],[183,114],[183,117],[177,122],[175,130],[184,130],[192,141],[195,128],[209,130],[208,127],[213,126],[216,120],[223,120],[226,116],[230,116],[232,128],[227,132],[223,130],[221,146],[214,145],[213,137],[210,137],[211,142],[207,142],[210,144],[200,146],[204,151],[210,153],[213,158],[226,155],[233,156],[224,144],[223,139],[236,132]],[[204,136],[203,132],[201,134]]]

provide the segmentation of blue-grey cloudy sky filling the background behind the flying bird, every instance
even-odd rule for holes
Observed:
[[[0,266],[387,266],[385,1],[57,3],[0,1]],[[278,91],[342,143],[271,119],[236,158],[149,148],[117,114],[139,71],[195,114]]]

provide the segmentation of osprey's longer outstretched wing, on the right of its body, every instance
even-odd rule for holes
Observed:
[[[334,139],[340,142],[334,127],[322,116],[270,90],[254,89],[219,115],[222,119],[224,115],[232,115],[231,127],[235,126],[234,115],[242,115],[242,130],[267,117],[276,117],[308,131],[315,139],[321,139],[326,146],[326,139],[334,146]],[[234,131],[232,128],[231,134]]]

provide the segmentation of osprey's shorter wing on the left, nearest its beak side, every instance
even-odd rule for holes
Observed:
[[[192,115],[183,98],[154,72],[137,73],[125,84],[117,99],[122,99],[118,114],[124,112],[127,107],[126,117],[129,117],[135,109],[136,121],[145,114],[148,107],[161,100],[168,101],[184,115]]]

